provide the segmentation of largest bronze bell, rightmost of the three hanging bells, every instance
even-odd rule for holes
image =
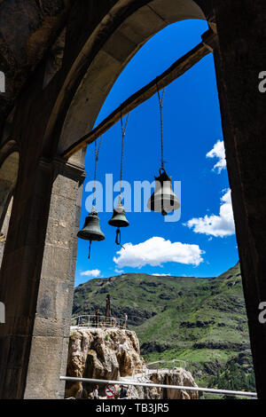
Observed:
[[[154,193],[147,203],[148,209],[160,212],[163,216],[179,209],[180,202],[173,192],[171,179],[164,169],[160,173],[160,177],[155,177],[155,181]]]

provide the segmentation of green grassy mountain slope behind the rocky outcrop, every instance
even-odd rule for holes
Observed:
[[[114,317],[127,312],[146,362],[185,360],[201,384],[254,390],[239,264],[207,279],[143,273],[90,279],[74,290],[73,316],[97,308],[105,315],[107,294]]]

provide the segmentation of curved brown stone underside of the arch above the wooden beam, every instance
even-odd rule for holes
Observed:
[[[92,130],[113,83],[144,43],[168,25],[189,19],[206,20],[200,6],[193,0],[176,0],[175,3],[172,0],[152,0],[121,22],[98,50],[75,90],[60,133],[59,153]],[[74,67],[81,65],[82,56],[89,46],[88,41]]]

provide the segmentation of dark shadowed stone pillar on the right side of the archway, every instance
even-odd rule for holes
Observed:
[[[246,299],[256,388],[266,398],[266,71],[264,0],[214,2],[219,45],[215,51],[224,145]]]

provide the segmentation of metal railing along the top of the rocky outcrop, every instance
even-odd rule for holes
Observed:
[[[72,327],[118,327],[118,328],[126,328],[127,323],[125,323],[125,319],[117,319],[116,317],[106,317],[100,316],[97,314],[87,314],[82,316],[77,316],[71,319],[71,326]]]

